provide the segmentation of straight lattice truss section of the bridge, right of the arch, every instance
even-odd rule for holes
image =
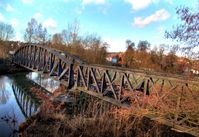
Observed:
[[[141,104],[143,96],[155,93],[166,96],[169,92],[192,92],[197,89],[197,81],[164,77],[133,71],[124,71],[91,65],[79,65],[76,76],[76,88],[79,90],[93,91],[98,97],[108,96],[117,103],[124,103],[131,97],[131,101]],[[90,93],[92,94],[92,93]],[[133,100],[132,100],[133,97]],[[108,99],[107,99],[108,100]],[[110,100],[113,102],[112,100]],[[115,103],[116,103],[115,102]]]

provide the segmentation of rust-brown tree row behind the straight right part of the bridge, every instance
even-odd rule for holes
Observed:
[[[114,56],[118,60],[115,65],[169,73],[184,73],[191,69],[191,60],[185,57],[178,57],[175,46],[166,52],[166,45],[150,49],[148,41],[140,41],[135,46],[134,42],[126,40],[126,45],[127,49],[122,56],[117,54]]]

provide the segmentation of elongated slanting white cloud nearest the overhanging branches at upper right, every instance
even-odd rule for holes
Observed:
[[[170,17],[170,14],[165,9],[160,9],[156,11],[154,14],[142,18],[142,17],[135,17],[134,18],[134,25],[138,27],[145,27],[146,25],[157,22],[157,21],[164,21],[167,20]]]

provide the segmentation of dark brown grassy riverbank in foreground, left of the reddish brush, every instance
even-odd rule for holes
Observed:
[[[63,95],[62,90],[45,99],[40,111],[25,123],[25,128],[21,125],[21,137],[193,137],[161,121],[149,119],[144,115],[145,110],[135,112],[117,108],[96,98],[88,97],[87,102],[84,97],[75,99],[73,114],[68,114],[67,103],[55,101]],[[72,93],[72,96],[83,95]]]

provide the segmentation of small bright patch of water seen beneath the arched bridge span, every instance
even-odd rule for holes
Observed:
[[[27,77],[33,80],[35,83],[39,84],[40,86],[44,87],[49,92],[53,92],[60,86],[59,81],[56,81],[52,78],[45,78],[44,75],[41,75],[36,72],[29,73]]]

